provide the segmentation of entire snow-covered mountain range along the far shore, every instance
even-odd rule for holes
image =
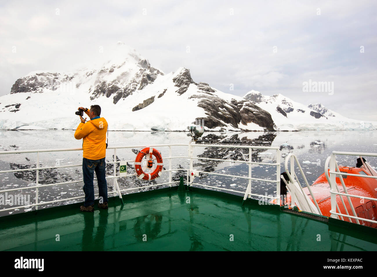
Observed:
[[[94,65],[70,72],[43,70],[15,81],[0,97],[0,129],[76,129],[77,108],[99,104],[109,130],[373,129],[320,104],[251,91],[244,98],[196,83],[190,70],[164,74],[123,43]],[[89,119],[89,118],[88,118]],[[200,121],[199,121],[200,120]]]

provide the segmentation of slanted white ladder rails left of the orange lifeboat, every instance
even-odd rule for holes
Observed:
[[[288,169],[288,162],[291,163],[290,170]],[[303,191],[302,185],[300,184],[299,178],[297,177],[297,174],[294,170],[294,162],[296,162],[297,167],[299,168],[301,176],[304,179],[305,185],[307,186],[310,192],[310,195],[314,201],[314,204],[313,202],[311,202],[307,194]],[[283,175],[281,175],[281,180],[285,183],[286,187],[288,188],[288,191],[291,194],[291,207],[293,208],[297,204],[300,210],[307,211],[309,213],[322,215],[322,212],[317,204],[316,197],[314,196],[313,191],[310,188],[308,180],[305,177],[305,174],[301,168],[301,165],[300,165],[299,160],[297,159],[297,156],[294,155],[293,153],[290,153],[285,158],[284,166],[285,166],[285,172],[287,173],[287,176],[290,182],[288,183],[283,177]]]

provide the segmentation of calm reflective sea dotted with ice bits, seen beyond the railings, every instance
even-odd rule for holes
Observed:
[[[55,149],[55,148],[81,148],[82,140],[74,138],[72,130],[48,130],[48,131],[0,131],[0,151],[10,150],[31,150],[31,149]],[[297,155],[300,164],[305,172],[308,182],[311,184],[324,172],[326,158],[333,150],[348,152],[377,152],[377,136],[375,131],[302,131],[302,132],[207,132],[197,144],[217,144],[219,147],[195,147],[194,155],[198,157],[248,160],[248,149],[221,148],[221,144],[251,145],[251,146],[276,146],[281,149],[281,172],[285,171],[285,156],[289,153]],[[187,132],[109,132],[109,146],[175,144],[189,143],[191,137]],[[162,157],[169,156],[169,147],[156,147]],[[116,150],[116,160],[134,161],[140,147]],[[173,156],[187,156],[187,146],[172,146]],[[107,175],[113,175],[114,150],[107,149]],[[353,156],[338,156],[339,165],[356,165],[356,158]],[[372,166],[377,166],[377,159],[366,158]],[[259,162],[276,162],[275,150],[253,150],[252,160]],[[20,168],[33,168],[37,164],[36,153],[18,153],[0,155],[0,170],[15,170]],[[67,182],[82,179],[82,150],[69,152],[46,152],[39,154],[40,167],[55,165],[79,165],[64,168],[53,168],[39,171],[39,184],[51,184],[57,182]],[[172,168],[188,168],[189,159],[172,159]],[[128,173],[135,173],[133,163],[128,164]],[[164,169],[169,168],[169,160],[164,159]],[[207,172],[222,174],[232,174],[237,176],[248,175],[248,165],[231,162],[214,162],[203,159],[194,160],[194,168]],[[116,168],[119,174],[119,165]],[[172,179],[178,181],[180,176],[186,176],[184,171],[175,170],[172,172]],[[252,176],[255,178],[276,180],[276,166],[253,165]],[[0,189],[28,187],[35,185],[36,171],[21,171],[12,173],[0,173]],[[121,189],[135,188],[127,193],[135,193],[143,190],[151,190],[165,187],[164,185],[154,188],[140,188],[145,185],[161,184],[169,181],[169,173],[165,172],[160,178],[153,181],[139,181],[135,176],[122,177],[118,179]],[[241,178],[225,177],[211,174],[201,174],[195,178],[200,184],[210,185],[218,188],[230,188],[232,190],[246,190],[248,181]],[[107,181],[109,191],[113,190],[113,181]],[[302,182],[303,184],[303,182]],[[97,186],[95,178],[95,187]],[[66,185],[55,185],[38,189],[39,202],[65,199],[76,196],[83,196],[83,183],[73,183]],[[97,189],[95,188],[97,193]],[[270,182],[256,181],[252,183],[252,193],[273,194],[276,192],[276,185]],[[23,194],[30,197],[31,203],[35,202],[35,189],[21,191],[11,191],[9,194]],[[3,195],[3,196],[2,196]],[[112,196],[109,193],[109,196]],[[5,197],[5,193],[0,193],[0,197]],[[9,199],[9,197],[8,197]],[[26,198],[27,199],[27,198]],[[54,205],[64,205],[78,200],[64,200],[54,204],[42,205],[41,208]],[[0,202],[1,203],[1,202]],[[15,204],[17,206],[17,204]],[[0,209],[12,207],[12,203],[1,203]],[[14,207],[14,206],[13,206]],[[20,208],[15,211],[3,211],[0,215],[18,213],[34,210],[34,207]]]

